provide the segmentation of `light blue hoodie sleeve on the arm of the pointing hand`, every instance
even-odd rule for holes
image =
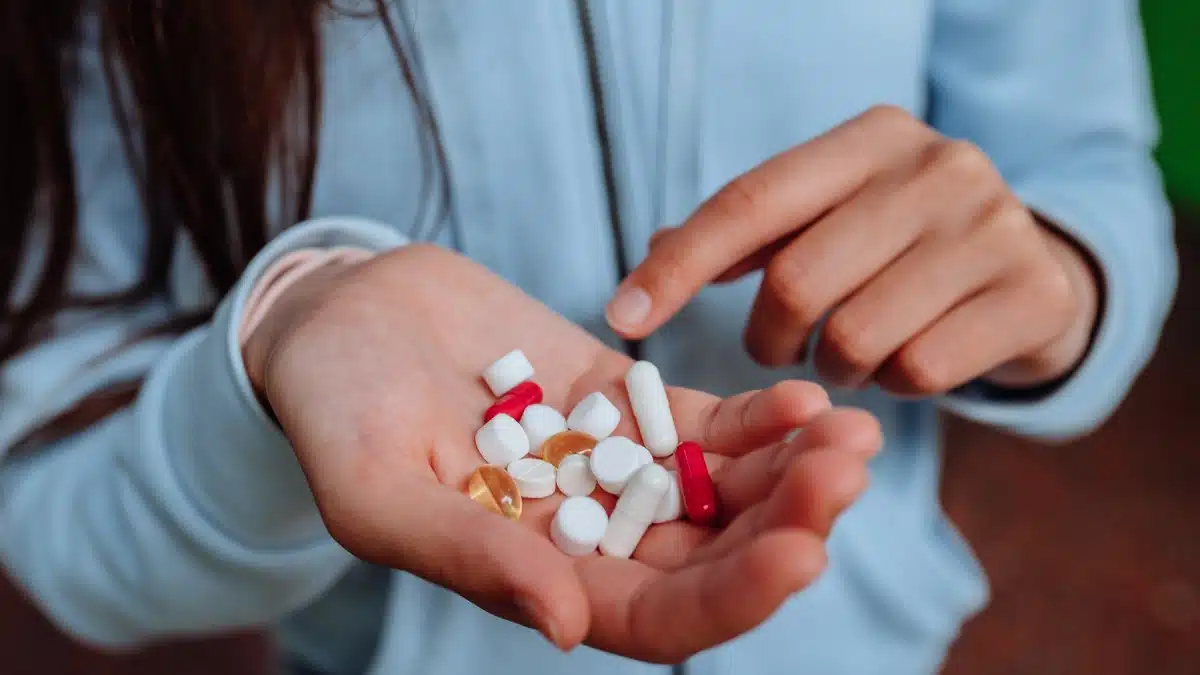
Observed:
[[[930,120],[977,143],[1034,211],[1103,275],[1088,354],[1038,396],[979,388],[942,399],[967,418],[1046,440],[1120,405],[1154,351],[1175,292],[1170,209],[1133,0],[936,0]]]

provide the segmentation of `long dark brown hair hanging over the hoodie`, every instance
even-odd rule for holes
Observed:
[[[444,169],[418,88],[412,29],[403,12],[396,24],[388,19],[386,0],[374,5],[359,18],[383,22],[427,126],[422,161]],[[330,0],[0,0],[0,363],[35,344],[64,309],[136,303],[162,288],[180,232],[224,293],[272,225],[307,217],[320,127],[320,29],[335,11],[342,10]],[[79,210],[71,120],[80,31],[90,18],[98,22],[148,244],[138,283],[80,298],[67,289]],[[407,53],[397,29],[409,31]],[[434,172],[422,173],[427,197]],[[269,185],[278,186],[282,223],[268,222]],[[448,190],[442,196],[444,208]],[[427,201],[420,220],[430,217]],[[35,228],[44,228],[47,245],[31,261]],[[30,265],[38,276],[18,306],[17,279]],[[181,317],[158,329],[203,319]],[[113,392],[94,396],[107,401],[100,416],[128,396],[116,399]]]

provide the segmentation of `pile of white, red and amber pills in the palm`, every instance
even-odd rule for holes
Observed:
[[[629,557],[654,524],[686,516],[710,525],[718,515],[716,490],[703,449],[679,442],[659,369],[637,362],[625,388],[642,443],[613,436],[620,411],[604,394],[583,398],[564,417],[542,404],[529,359],[515,350],[484,370],[496,396],[484,413],[475,446],[486,465],[468,480],[468,495],[486,508],[517,520],[523,500],[556,491],[566,496],[550,538],[572,556]],[[655,460],[674,456],[676,471]],[[617,496],[608,513],[592,498],[596,490]]]

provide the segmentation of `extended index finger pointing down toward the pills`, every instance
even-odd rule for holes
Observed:
[[[610,325],[628,339],[649,335],[724,271],[846,201],[932,133],[900,109],[872,108],[733,179],[655,241],[608,304]]]

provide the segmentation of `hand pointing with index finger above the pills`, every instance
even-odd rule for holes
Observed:
[[[1098,282],[974,145],[875,108],[733,180],[661,232],[610,305],[642,338],[709,282],[764,268],[746,325],[764,365],[935,394],[985,376],[1025,387],[1087,350]]]

